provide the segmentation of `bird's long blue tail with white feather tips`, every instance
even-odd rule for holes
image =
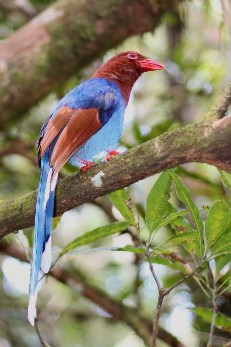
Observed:
[[[52,168],[46,163],[40,174],[36,211],[32,268],[30,273],[30,291],[28,319],[34,325],[36,318],[36,299],[40,268],[48,272],[51,266],[51,229],[54,209],[54,188],[57,177],[51,182]]]

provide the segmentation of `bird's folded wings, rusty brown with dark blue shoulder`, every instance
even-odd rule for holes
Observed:
[[[112,116],[118,99],[113,92],[96,96],[82,107],[63,104],[44,123],[38,137],[38,162],[48,154],[53,177],[66,161],[77,152]],[[77,104],[78,106],[78,104]],[[73,103],[71,103],[73,107]]]

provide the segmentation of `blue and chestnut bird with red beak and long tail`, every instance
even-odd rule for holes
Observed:
[[[124,111],[136,80],[161,70],[158,61],[126,51],[106,61],[91,79],[66,94],[44,122],[37,140],[38,184],[30,273],[28,319],[34,325],[40,268],[51,266],[51,229],[58,172],[69,161],[85,172],[112,158],[123,130]]]

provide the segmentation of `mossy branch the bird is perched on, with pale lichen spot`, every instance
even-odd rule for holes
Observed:
[[[231,115],[224,117],[230,103],[231,82],[203,122],[164,133],[85,174],[61,179],[54,215],[187,162],[207,163],[231,172]],[[36,191],[0,202],[0,237],[34,225],[35,204]]]

